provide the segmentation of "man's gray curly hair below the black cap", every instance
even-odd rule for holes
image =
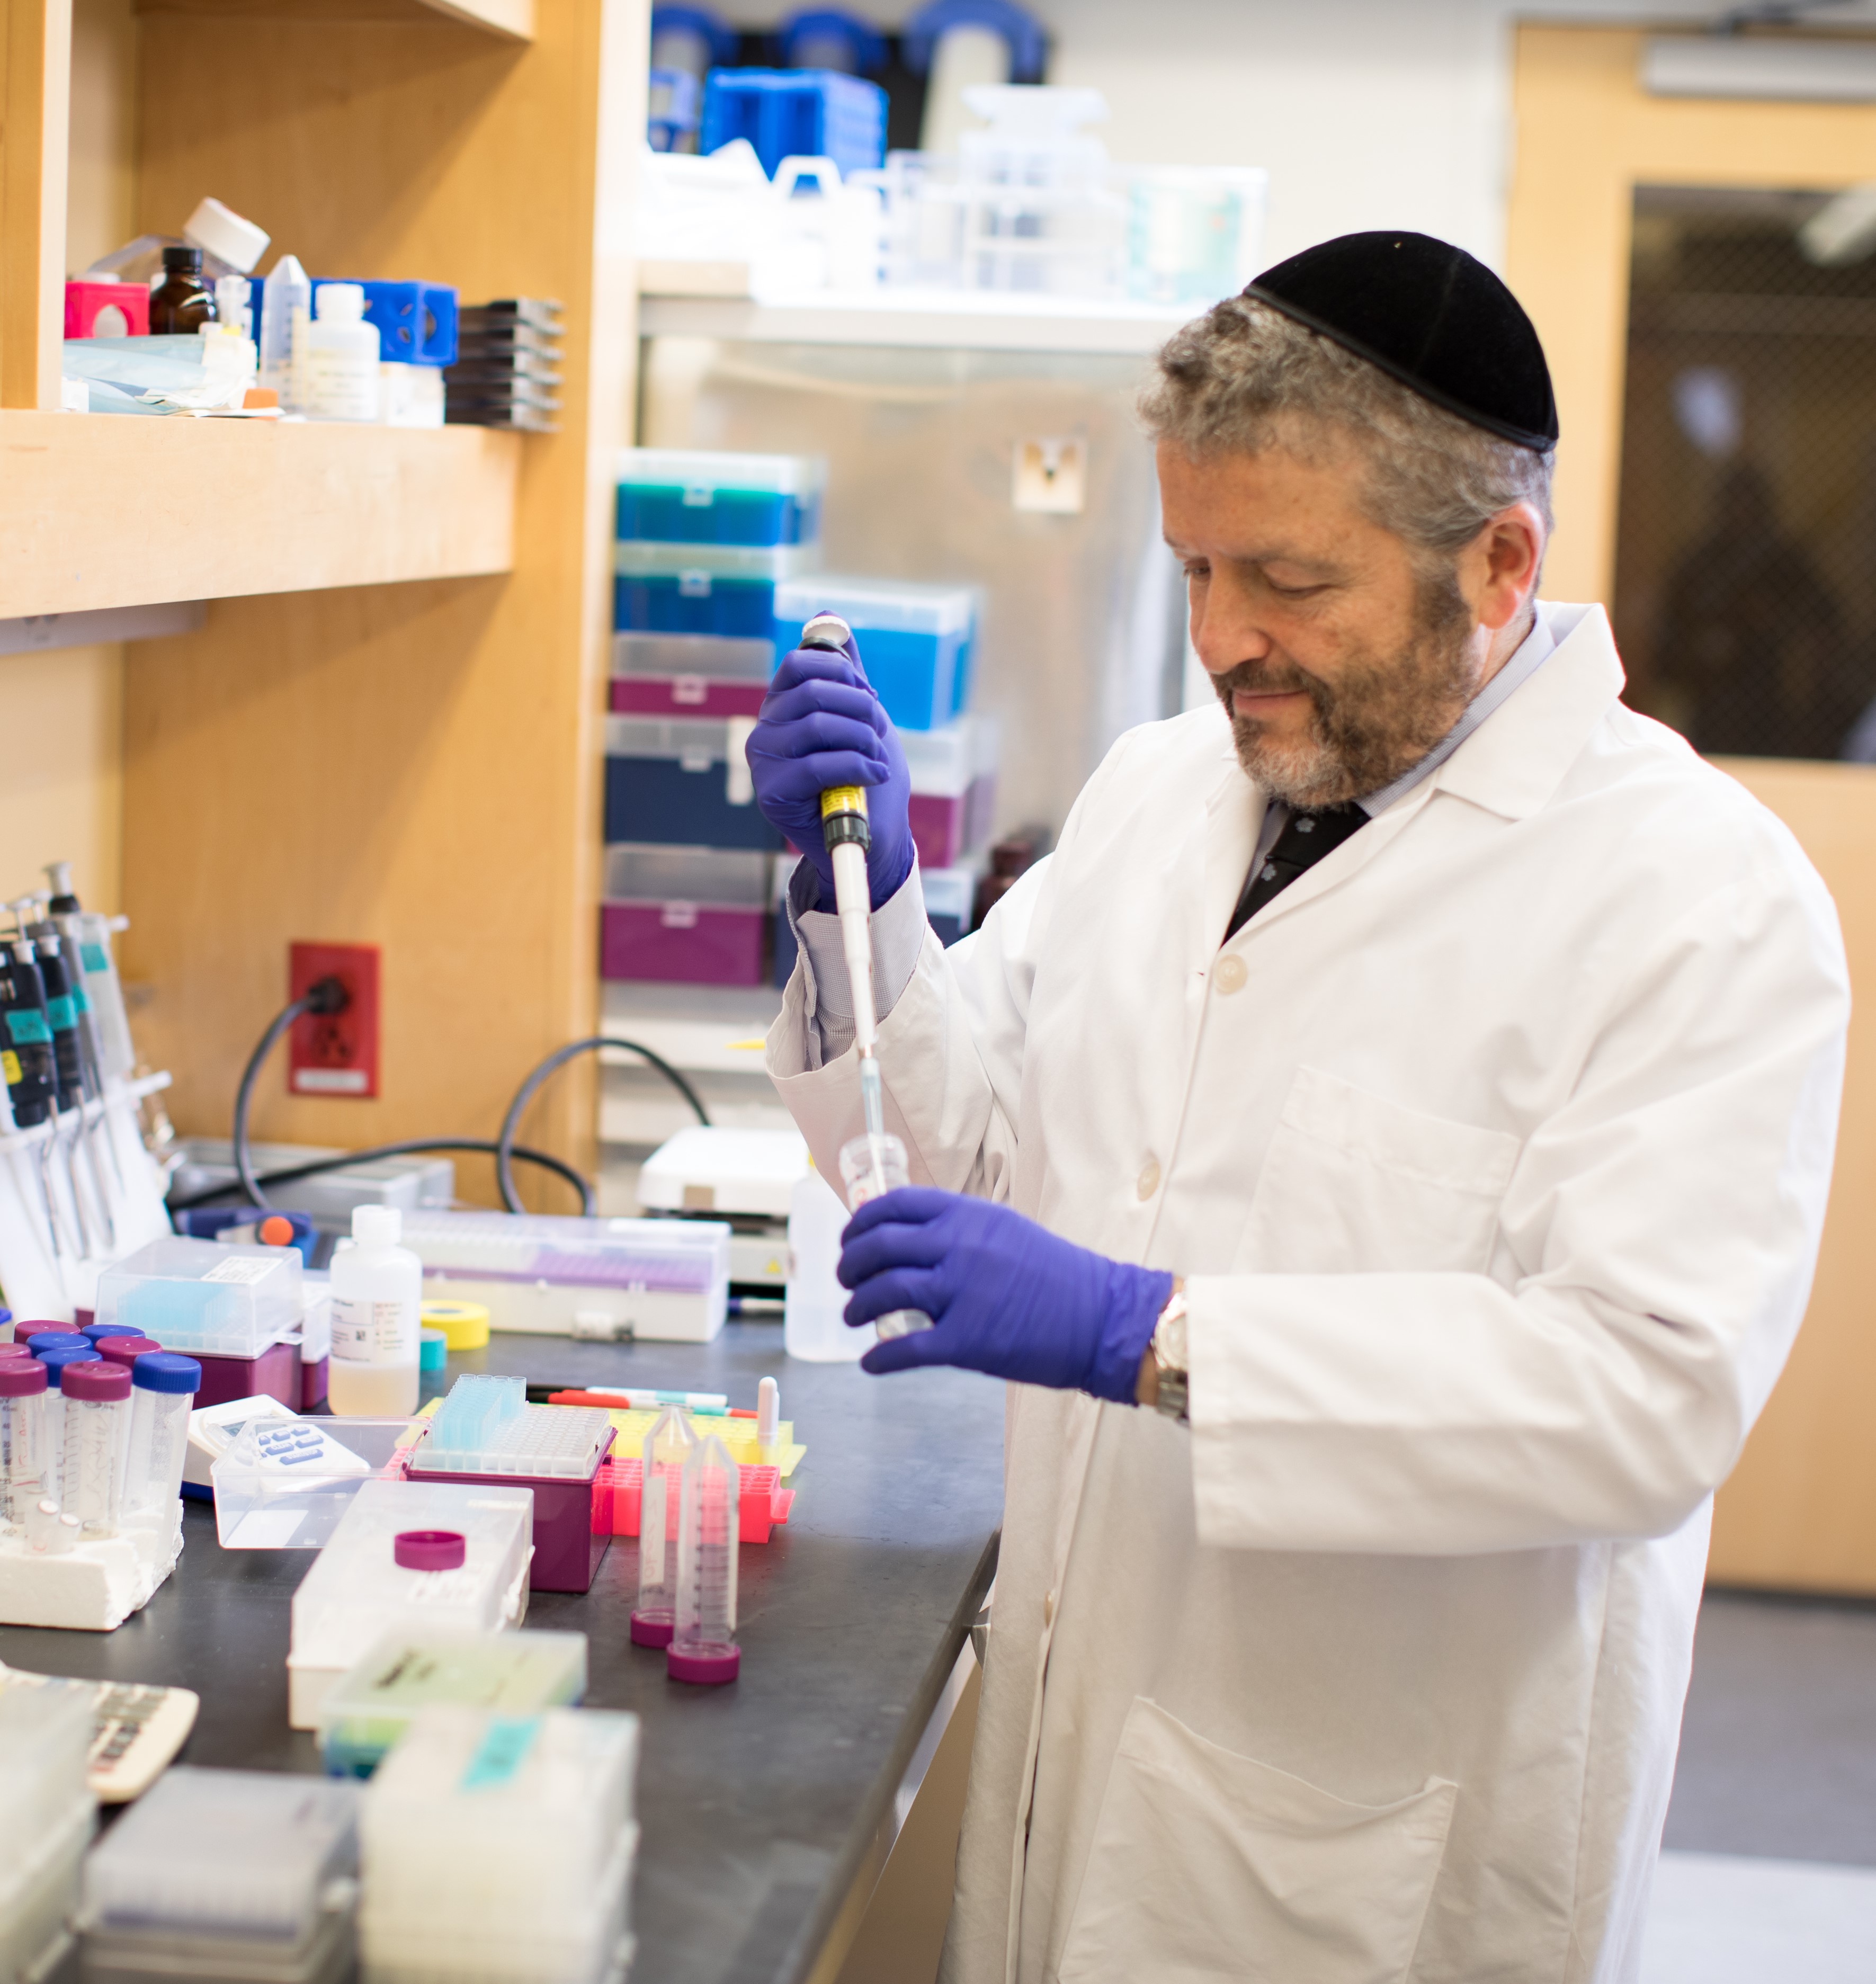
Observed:
[[[1462,421],[1251,296],[1230,296],[1174,331],[1140,419],[1156,442],[1196,458],[1281,444],[1309,460],[1339,431],[1366,458],[1366,514],[1436,558],[1452,558],[1515,502],[1553,526],[1551,452]]]

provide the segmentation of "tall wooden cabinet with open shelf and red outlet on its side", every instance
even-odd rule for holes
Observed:
[[[58,413],[69,0],[0,0],[0,617],[208,599],[125,669],[125,966],[226,1135],[292,938],[383,946],[377,1101],[256,1135],[492,1135],[591,1030],[643,0],[175,0],[135,18],[137,226],[214,194],[315,276],[565,306],[561,431]],[[577,1073],[529,1137],[591,1161]],[[486,1194],[474,1159],[462,1184]],[[557,1204],[557,1202],[555,1202]]]

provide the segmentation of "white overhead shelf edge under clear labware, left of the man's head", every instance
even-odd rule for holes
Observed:
[[[1144,357],[1194,315],[1192,310],[1156,304],[1097,304],[996,290],[827,290],[789,302],[758,300],[748,294],[742,264],[700,262],[694,276],[686,274],[688,268],[664,262],[641,270],[643,335]],[[676,294],[680,284],[688,294]],[[744,294],[726,294],[738,288]]]

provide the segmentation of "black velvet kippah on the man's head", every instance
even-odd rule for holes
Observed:
[[[1267,268],[1243,294],[1473,427],[1521,448],[1557,446],[1537,325],[1483,262],[1452,242],[1343,234]]]

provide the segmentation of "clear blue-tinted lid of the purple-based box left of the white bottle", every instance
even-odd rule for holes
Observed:
[[[97,1278],[95,1321],[167,1351],[258,1357],[299,1327],[299,1252],[169,1234]]]

